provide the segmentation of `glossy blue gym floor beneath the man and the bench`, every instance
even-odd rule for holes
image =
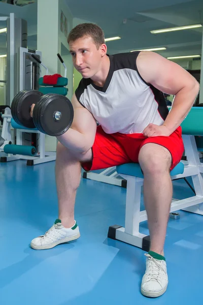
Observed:
[[[180,211],[180,220],[168,222],[168,289],[159,298],[146,298],[140,292],[144,252],[107,238],[110,225],[124,226],[121,187],[82,178],[75,209],[81,237],[51,250],[32,250],[31,239],[57,218],[54,166],[0,164],[0,304],[202,303],[203,216]],[[174,181],[174,197],[184,196],[193,193],[183,180]],[[146,222],[141,232],[148,234]]]

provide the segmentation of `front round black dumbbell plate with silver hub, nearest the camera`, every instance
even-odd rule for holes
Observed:
[[[56,120],[54,114],[59,111],[61,118]],[[73,122],[74,110],[71,101],[62,95],[50,95],[43,103],[39,130],[50,136],[59,136],[66,132]]]

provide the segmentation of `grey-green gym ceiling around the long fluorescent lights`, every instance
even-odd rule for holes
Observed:
[[[120,40],[107,42],[109,53],[164,46],[167,49],[159,52],[164,57],[201,54],[202,27],[156,35],[150,31],[202,23],[203,0],[64,1],[73,17],[97,23],[103,28],[106,38],[121,37]],[[13,6],[0,3],[1,15],[4,15],[5,7],[8,10]],[[18,7],[18,14],[18,17],[28,21],[28,46],[37,48],[37,3]],[[4,27],[2,22],[1,27]],[[0,34],[0,54],[5,50],[6,35]]]

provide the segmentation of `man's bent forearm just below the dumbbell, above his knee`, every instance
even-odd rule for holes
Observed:
[[[57,139],[66,148],[79,153],[86,153],[92,146],[90,139],[86,135],[72,128],[58,136]]]

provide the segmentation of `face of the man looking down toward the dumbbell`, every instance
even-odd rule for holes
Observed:
[[[102,58],[101,47],[97,50],[91,37],[70,41],[69,48],[73,65],[83,78],[91,78],[99,71]]]

